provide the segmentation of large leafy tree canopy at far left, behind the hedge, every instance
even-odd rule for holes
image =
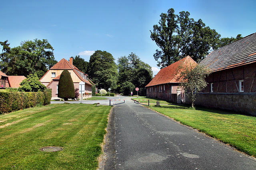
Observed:
[[[3,46],[0,66],[7,75],[27,77],[30,74],[37,74],[38,77],[42,77],[57,63],[53,55],[54,49],[47,39],[24,41],[14,48],[10,48],[7,42],[0,42]]]

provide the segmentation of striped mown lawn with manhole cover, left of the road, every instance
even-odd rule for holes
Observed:
[[[0,115],[0,169],[96,169],[110,109],[50,104]],[[63,150],[40,151],[48,146]]]

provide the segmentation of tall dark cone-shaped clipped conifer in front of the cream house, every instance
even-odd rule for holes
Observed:
[[[62,98],[65,101],[67,101],[69,98],[75,98],[74,83],[68,70],[64,70],[60,74],[58,98]]]

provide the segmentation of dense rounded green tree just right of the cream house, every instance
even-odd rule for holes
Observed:
[[[89,76],[98,88],[116,89],[117,66],[112,54],[97,50],[90,57]]]

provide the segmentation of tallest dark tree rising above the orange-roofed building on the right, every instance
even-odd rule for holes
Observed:
[[[187,55],[200,61],[216,45],[220,35],[206,27],[201,19],[194,21],[189,16],[184,11],[176,15],[171,8],[167,14],[160,15],[159,25],[153,26],[150,37],[160,48],[154,54],[158,66],[164,68]]]

